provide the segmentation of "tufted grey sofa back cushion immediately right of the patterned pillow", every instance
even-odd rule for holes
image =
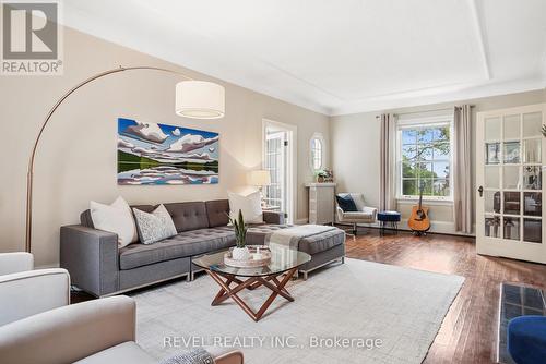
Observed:
[[[209,217],[204,202],[165,204],[173,217],[176,231],[189,231],[209,228]]]

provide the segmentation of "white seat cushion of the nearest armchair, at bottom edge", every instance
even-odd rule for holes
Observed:
[[[99,351],[96,354],[82,359],[78,364],[105,364],[105,363],[134,363],[154,364],[156,361],[150,356],[134,341],[127,341],[118,345]]]

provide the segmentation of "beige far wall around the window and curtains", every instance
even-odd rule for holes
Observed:
[[[385,110],[384,112],[400,114],[470,104],[475,106],[473,108],[475,128],[476,112],[541,102],[546,102],[546,90],[544,89],[450,104]],[[332,166],[339,183],[339,191],[363,192],[371,206],[379,205],[380,122],[376,119],[379,113],[381,111],[333,117],[330,123]],[[474,136],[475,133],[473,133]],[[475,139],[472,141],[472,154],[474,155]],[[470,166],[468,170],[475,186],[474,166]],[[397,208],[402,213],[403,219],[410,216],[413,204],[413,202],[399,203]],[[454,233],[452,205],[446,203],[427,203],[427,205],[430,206],[432,230]]]

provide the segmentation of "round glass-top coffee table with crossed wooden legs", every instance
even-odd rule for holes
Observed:
[[[263,267],[236,268],[225,265],[224,254],[227,251],[203,255],[194,259],[192,263],[203,268],[221,287],[211,305],[218,305],[230,298],[254,321],[259,321],[277,295],[293,302],[294,298],[288,293],[285,286],[299,266],[311,260],[311,256],[307,253],[280,245],[271,246],[270,250],[271,262]],[[283,275],[285,276],[282,277]],[[237,293],[245,289],[256,290],[259,287],[271,290],[271,294],[260,310],[256,312]]]

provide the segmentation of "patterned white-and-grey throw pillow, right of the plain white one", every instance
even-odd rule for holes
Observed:
[[[165,206],[159,205],[152,214],[133,208],[136,230],[142,244],[153,244],[177,234],[175,223]]]

